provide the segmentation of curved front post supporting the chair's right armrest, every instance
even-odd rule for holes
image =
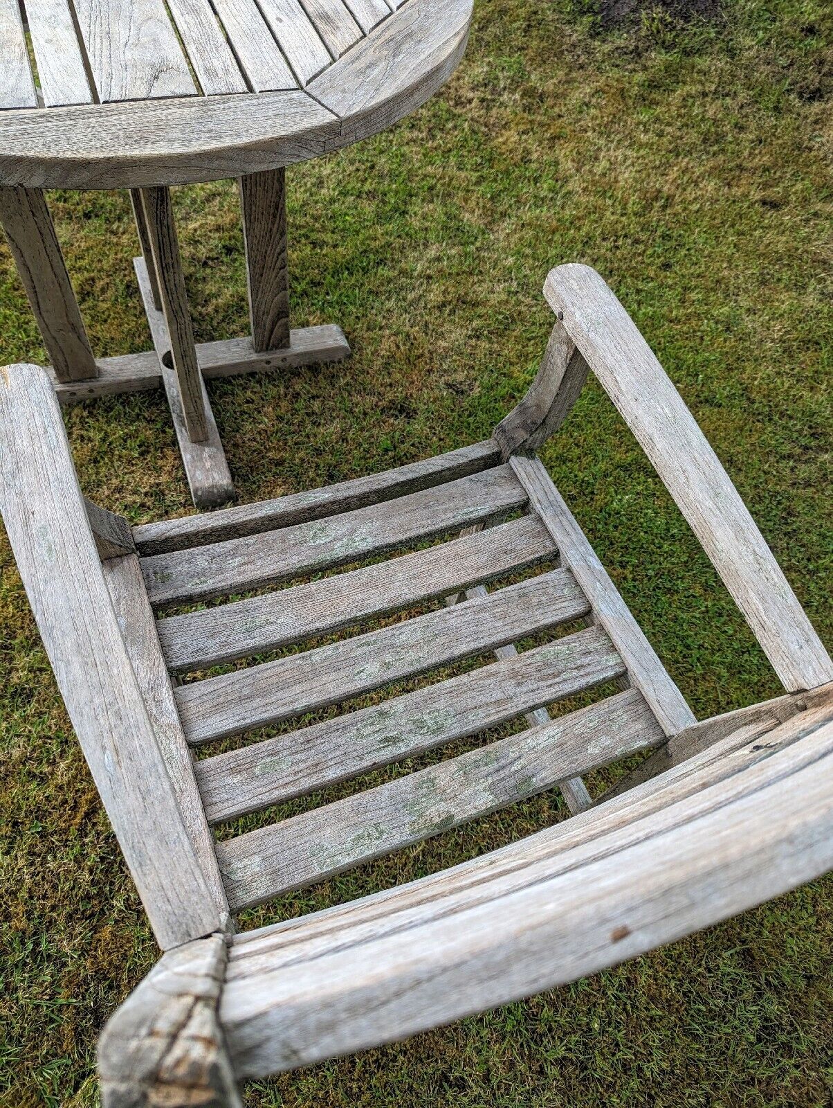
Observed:
[[[555,434],[578,399],[588,372],[575,343],[556,324],[528,392],[494,429],[504,460],[512,454],[534,453]]]

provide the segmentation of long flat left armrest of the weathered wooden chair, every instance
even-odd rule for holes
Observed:
[[[70,719],[161,946],[212,902],[104,581],[49,378],[0,373],[0,507]]]

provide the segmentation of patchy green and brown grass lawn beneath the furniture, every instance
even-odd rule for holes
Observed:
[[[351,361],[209,384],[244,500],[489,435],[552,318],[546,270],[614,285],[833,646],[833,8],[728,0],[601,31],[567,0],[479,0],[469,53],[393,130],[290,171],[296,326]],[[124,193],[51,204],[96,351],[150,347]],[[177,189],[198,339],[241,334],[227,183]],[[0,246],[0,362],[43,360]],[[132,522],[189,511],[162,394],[66,413],[84,491]],[[544,459],[698,716],[778,681],[669,497],[590,384]],[[96,1101],[99,1028],[156,948],[3,536],[0,1104]],[[594,790],[605,776],[590,779]],[[298,913],[563,815],[555,793],[272,906]],[[260,922],[268,912],[248,913]],[[251,1085],[266,1106],[833,1102],[833,880],[557,993]]]

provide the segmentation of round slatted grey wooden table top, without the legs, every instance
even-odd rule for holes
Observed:
[[[0,0],[0,185],[176,185],[316,157],[428,100],[471,13],[472,0]]]

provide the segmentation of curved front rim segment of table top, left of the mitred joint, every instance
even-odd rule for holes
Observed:
[[[328,55],[329,57],[329,55]],[[341,133],[299,90],[0,112],[0,186],[138,188],[239,177],[326,153]]]

